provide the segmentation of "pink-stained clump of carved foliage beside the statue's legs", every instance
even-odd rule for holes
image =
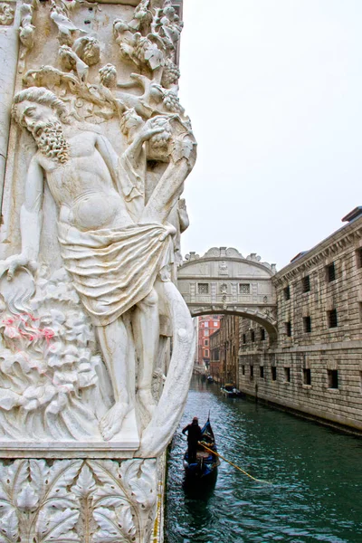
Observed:
[[[43,268],[35,284],[23,269],[11,285],[0,284],[2,438],[24,439],[25,426],[29,440],[100,438],[97,418],[110,406],[100,381],[107,376],[68,273],[49,276]]]

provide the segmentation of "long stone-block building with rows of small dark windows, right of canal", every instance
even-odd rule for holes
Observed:
[[[278,338],[241,319],[239,387],[362,432],[362,214],[272,281]]]

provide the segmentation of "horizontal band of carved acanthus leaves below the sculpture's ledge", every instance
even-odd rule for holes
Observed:
[[[146,543],[157,461],[0,462],[0,543]]]

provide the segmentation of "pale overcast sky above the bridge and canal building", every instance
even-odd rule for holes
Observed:
[[[183,252],[281,269],[362,205],[362,1],[184,0],[184,21],[198,158]]]

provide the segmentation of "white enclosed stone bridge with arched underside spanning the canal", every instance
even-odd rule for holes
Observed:
[[[275,265],[255,253],[246,258],[233,248],[213,247],[204,256],[186,255],[177,285],[193,317],[233,314],[252,319],[276,338]]]

